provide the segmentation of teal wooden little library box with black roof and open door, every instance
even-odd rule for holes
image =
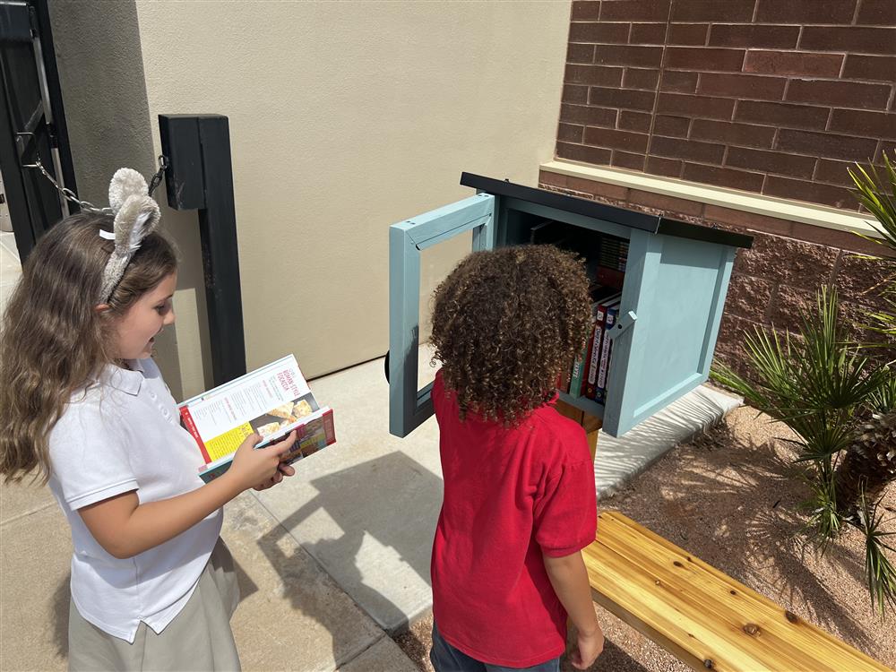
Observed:
[[[603,418],[607,434],[633,426],[703,383],[710,373],[738,247],[753,238],[463,173],[478,193],[389,230],[389,431],[408,435],[433,413],[432,383],[418,389],[420,252],[472,231],[473,250],[555,242],[599,267],[600,250],[625,248],[613,269],[621,289],[606,398],[560,396]]]

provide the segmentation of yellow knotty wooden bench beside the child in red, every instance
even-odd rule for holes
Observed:
[[[887,669],[621,513],[583,557],[595,601],[694,669]]]

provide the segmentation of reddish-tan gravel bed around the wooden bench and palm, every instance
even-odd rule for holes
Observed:
[[[780,441],[787,427],[772,425],[754,409],[736,409],[690,444],[668,452],[631,485],[599,508],[617,510],[782,607],[833,633],[888,667],[896,667],[896,614],[875,615],[865,582],[861,535],[848,530],[818,556],[800,532],[799,504],[807,496],[795,453]],[[598,460],[600,445],[598,444]],[[884,501],[896,513],[896,487]],[[896,521],[888,530],[896,531]],[[687,672],[683,663],[595,607],[607,646],[590,669],[612,672]],[[432,671],[428,652],[432,616],[396,637],[421,670]],[[564,659],[562,669],[574,668]]]

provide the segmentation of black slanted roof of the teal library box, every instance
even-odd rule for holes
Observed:
[[[703,227],[699,224],[691,224],[686,221],[672,220],[659,215],[649,215],[646,212],[617,208],[614,205],[606,205],[596,201],[588,201],[569,194],[558,194],[544,189],[536,189],[531,186],[514,185],[513,182],[497,180],[493,177],[482,177],[472,173],[461,173],[461,185],[471,186],[475,189],[495,194],[496,196],[509,196],[521,201],[528,201],[545,205],[548,208],[556,208],[567,212],[574,212],[585,217],[593,217],[596,220],[612,221],[615,224],[629,228],[640,228],[650,233],[664,236],[676,236],[691,238],[692,240],[704,240],[708,243],[729,245],[733,247],[752,247],[753,237],[740,233],[726,231],[723,228]]]

